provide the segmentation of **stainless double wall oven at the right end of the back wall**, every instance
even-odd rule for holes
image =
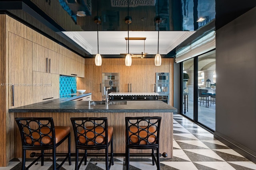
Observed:
[[[170,73],[156,72],[155,92],[159,94],[158,100],[170,104]]]

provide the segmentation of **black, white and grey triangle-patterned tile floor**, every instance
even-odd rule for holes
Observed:
[[[220,141],[214,139],[213,134],[202,127],[186,119],[182,115],[174,114],[173,124],[173,156],[174,158],[161,158],[161,170],[256,170],[256,164],[250,162],[244,156],[230,149]],[[0,170],[20,170],[21,158],[10,161],[8,167],[0,167]],[[29,164],[28,160],[26,164]],[[50,170],[51,160],[45,161],[44,166],[33,165],[30,170]],[[105,162],[98,159],[88,159],[86,166],[80,170],[104,170]],[[57,163],[60,163],[57,161]],[[68,162],[60,170],[73,170]],[[115,158],[111,170],[124,170],[124,159]],[[130,170],[156,170],[152,160],[148,158],[130,159]]]

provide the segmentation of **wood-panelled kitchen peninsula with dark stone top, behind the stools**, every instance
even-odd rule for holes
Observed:
[[[63,101],[61,99],[40,102],[22,107],[9,109],[14,117],[53,117],[54,125],[70,126],[70,117],[108,117],[108,125],[114,128],[114,155],[123,156],[125,153],[125,117],[161,116],[160,153],[166,152],[172,158],[172,123],[173,113],[177,109],[158,100],[150,101],[122,101],[122,104],[105,102],[90,104],[92,101]],[[100,102],[99,102],[100,103]],[[18,127],[13,127],[14,135],[19,136]],[[67,152],[67,143],[58,148],[58,152]],[[14,152],[15,150],[15,152]],[[14,158],[20,158],[22,148],[20,140],[14,141]],[[74,134],[71,131],[71,152],[75,152]],[[132,150],[134,153],[146,150]],[[27,154],[29,155],[29,154]]]

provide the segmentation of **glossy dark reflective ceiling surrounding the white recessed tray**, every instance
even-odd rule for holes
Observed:
[[[94,17],[97,15],[102,19],[99,27],[101,31],[125,31],[127,2],[127,0],[0,0],[0,14],[8,14],[82,57],[90,57],[87,51],[67,39],[61,31],[95,31],[97,26]],[[242,2],[240,0],[159,0],[159,6],[158,0],[129,0],[129,2],[129,16],[132,17],[131,31],[156,31],[154,18],[158,15],[163,20],[160,23],[160,31],[196,30],[190,39],[179,45],[180,48],[204,35],[209,29],[215,29],[215,25],[216,29],[222,27],[256,4],[256,1],[252,0]],[[78,11],[85,12],[86,16],[77,16]],[[204,17],[206,20],[196,22],[199,17]]]

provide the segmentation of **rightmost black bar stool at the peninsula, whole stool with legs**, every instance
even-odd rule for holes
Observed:
[[[125,117],[126,170],[129,170],[130,149],[152,149],[152,164],[160,170],[159,136],[162,117]],[[154,154],[156,150],[156,156]],[[141,154],[138,156],[145,156]]]

